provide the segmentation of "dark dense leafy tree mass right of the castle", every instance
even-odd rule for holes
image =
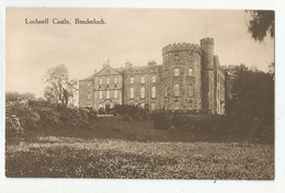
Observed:
[[[271,129],[272,134],[274,132],[273,73],[252,71],[244,65],[236,67],[235,71],[229,114],[235,117],[243,134],[255,135],[267,129]]]

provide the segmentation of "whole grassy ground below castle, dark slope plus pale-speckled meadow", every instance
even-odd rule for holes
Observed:
[[[100,118],[90,129],[26,130],[8,138],[7,177],[273,180],[274,146],[151,122]]]

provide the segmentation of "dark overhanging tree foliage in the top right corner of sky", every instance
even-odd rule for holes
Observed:
[[[270,34],[273,38],[275,35],[274,11],[250,10],[247,11],[251,15],[248,24],[248,31],[252,38],[262,42]]]

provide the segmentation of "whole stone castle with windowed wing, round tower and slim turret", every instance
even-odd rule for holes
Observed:
[[[134,104],[150,111],[192,110],[225,114],[225,70],[214,55],[214,38],[162,48],[162,65],[102,70],[79,81],[79,106],[112,109]]]

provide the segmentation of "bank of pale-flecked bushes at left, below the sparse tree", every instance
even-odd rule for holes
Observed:
[[[90,128],[96,118],[93,109],[66,107],[44,100],[10,100],[5,109],[7,130],[11,135],[22,129]]]

